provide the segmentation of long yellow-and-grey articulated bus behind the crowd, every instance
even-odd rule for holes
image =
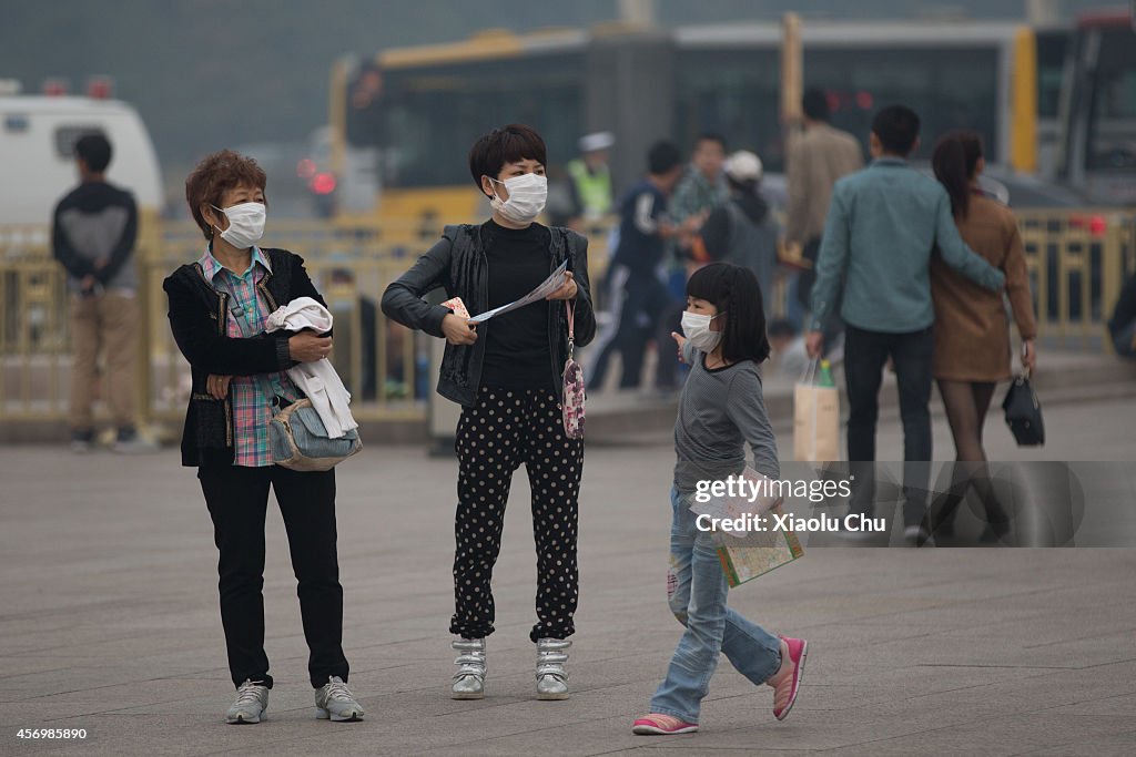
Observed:
[[[952,128],[985,138],[1006,173],[1055,174],[1068,30],[997,22],[809,22],[804,82],[825,90],[833,121],[864,141],[872,112],[913,107],[927,142]],[[659,138],[702,132],[784,165],[782,27],[625,23],[526,34],[490,30],[453,43],[342,60],[332,76],[331,169],[336,212],[384,228],[436,227],[484,213],[466,151],[494,126],[525,123],[549,145],[550,171],[588,132],[616,135],[612,174],[626,187]],[[1039,143],[1041,140],[1041,143]],[[929,154],[929,145],[922,150]]]

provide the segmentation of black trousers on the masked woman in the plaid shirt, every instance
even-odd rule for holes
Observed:
[[[264,681],[272,688],[265,654],[265,515],[269,486],[287,531],[300,596],[308,674],[319,688],[328,676],[348,680],[343,656],[343,588],[335,550],[335,471],[300,473],[273,465],[198,469],[220,550],[220,619],[233,683]]]

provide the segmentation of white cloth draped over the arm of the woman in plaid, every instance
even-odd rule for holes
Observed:
[[[311,297],[296,297],[268,317],[266,331],[299,331],[315,329],[319,334],[332,330],[332,313]],[[287,375],[311,401],[319,414],[327,436],[337,439],[348,431],[359,428],[348,405],[351,393],[343,386],[340,375],[326,358],[312,363],[299,363],[290,368]]]

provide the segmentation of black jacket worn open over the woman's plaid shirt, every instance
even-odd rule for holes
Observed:
[[[296,297],[326,305],[303,269],[303,259],[286,250],[261,249],[272,272],[257,285],[272,310]],[[210,373],[254,376],[287,370],[296,364],[289,352],[292,331],[265,333],[251,339],[226,336],[228,294],[206,280],[198,263],[175,270],[162,283],[169,300],[169,327],[178,350],[190,361],[193,388],[182,434],[182,464],[233,464],[233,407],[228,397],[214,399],[206,387]]]

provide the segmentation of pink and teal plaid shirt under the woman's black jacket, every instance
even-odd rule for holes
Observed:
[[[247,319],[249,327],[251,327],[250,331],[254,334],[264,331],[265,321],[268,320],[270,313],[267,303],[261,302],[260,297],[257,296],[257,284],[265,277],[265,274],[272,272],[272,268],[260,250],[252,247],[252,261],[249,263],[249,270],[241,276],[222,266],[209,250],[206,250],[206,254],[198,262],[201,263],[201,270],[204,271],[206,278],[214,283],[214,288],[217,288],[215,281],[218,276],[227,277],[228,289],[233,293],[233,300],[236,302],[228,303],[229,313],[225,321],[226,336],[234,339],[244,338],[241,327],[236,322],[237,318]],[[243,316],[233,313],[237,305],[243,309]],[[276,395],[290,402],[300,398],[300,393],[287,373],[265,373],[264,377],[268,379]],[[233,464],[245,468],[272,465],[273,460],[268,452],[268,422],[273,419],[275,409],[273,407],[273,398],[265,396],[262,381],[256,376],[234,376],[228,385],[228,397],[233,406]]]

